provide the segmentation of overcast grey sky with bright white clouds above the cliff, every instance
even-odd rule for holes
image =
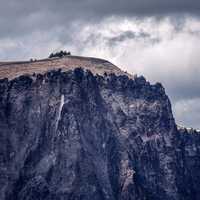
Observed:
[[[200,128],[199,0],[0,0],[0,60],[69,50],[161,82],[176,122]]]

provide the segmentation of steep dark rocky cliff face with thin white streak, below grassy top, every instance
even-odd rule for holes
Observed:
[[[0,199],[199,200],[200,134],[143,77],[2,79]]]

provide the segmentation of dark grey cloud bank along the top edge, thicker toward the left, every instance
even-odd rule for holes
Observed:
[[[200,10],[197,0],[0,0],[0,5],[0,37],[69,27],[75,21],[100,21],[113,15],[198,14]]]

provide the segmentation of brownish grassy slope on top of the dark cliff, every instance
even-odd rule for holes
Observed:
[[[41,60],[32,61],[7,61],[0,62],[0,79],[8,78],[13,79],[20,75],[33,73],[45,73],[50,70],[62,69],[67,71],[82,67],[89,69],[94,74],[103,73],[116,73],[121,75],[131,76],[130,74],[123,72],[120,68],[112,64],[111,62],[94,57],[81,57],[81,56],[63,56],[62,58],[46,58]]]

